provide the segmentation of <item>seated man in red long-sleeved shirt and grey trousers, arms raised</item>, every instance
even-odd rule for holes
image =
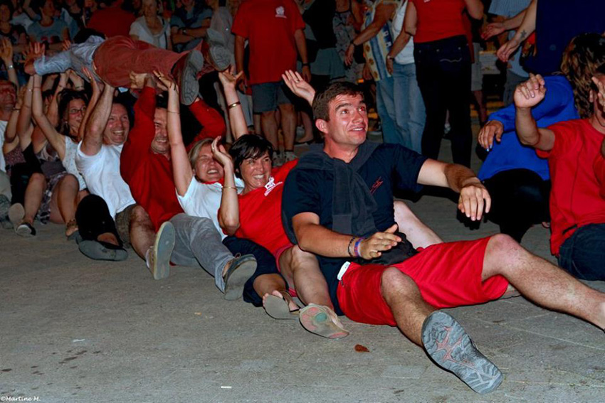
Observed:
[[[166,256],[174,264],[196,266],[184,255],[190,252],[192,245],[207,245],[203,238],[194,238],[195,232],[191,229],[194,217],[186,217],[179,205],[177,194],[174,192],[174,176],[172,171],[171,147],[168,138],[168,114],[179,118],[179,102],[174,100],[174,109],[169,112],[166,107],[156,104],[156,82],[152,75],[132,75],[132,86],[140,89],[139,100],[135,104],[135,126],[125,141],[120,157],[120,171],[122,178],[130,186],[132,195],[137,203],[149,214],[157,232],[169,230],[174,232],[173,245],[157,245],[152,249],[154,254],[150,259],[157,259],[158,255]],[[225,124],[219,112],[206,106],[204,101],[196,100],[190,109],[204,125],[201,134],[210,138],[220,136],[225,131]],[[213,131],[214,130],[214,131]],[[197,220],[197,225],[202,225]],[[211,227],[214,230],[214,227]],[[220,245],[219,249],[226,249]],[[160,253],[161,248],[172,249],[172,253]],[[216,245],[204,252],[202,262],[209,259],[212,253],[218,253]],[[224,251],[223,251],[224,252]],[[226,253],[227,254],[227,253]],[[248,280],[256,268],[256,262],[250,255],[234,258],[228,253],[228,259],[221,266],[221,276],[217,279],[217,286],[225,293],[227,299],[237,299],[242,295],[243,284]],[[169,264],[150,264],[149,267],[162,269],[163,272],[154,272],[154,279],[165,279],[169,276]]]

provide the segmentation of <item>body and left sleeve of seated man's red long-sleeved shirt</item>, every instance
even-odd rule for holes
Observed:
[[[120,156],[120,173],[157,231],[164,221],[183,213],[183,209],[174,190],[172,163],[151,149],[155,136],[154,114],[155,90],[144,87],[135,104],[135,127]]]

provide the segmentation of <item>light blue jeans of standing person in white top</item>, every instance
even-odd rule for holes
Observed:
[[[416,81],[416,65],[393,63],[393,78],[396,124],[402,140],[399,144],[421,153],[426,112]]]

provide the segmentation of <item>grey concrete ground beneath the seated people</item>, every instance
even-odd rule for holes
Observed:
[[[468,230],[446,198],[409,204],[444,240],[498,232],[489,222]],[[36,227],[34,239],[0,230],[0,401],[605,400],[604,333],[521,297],[449,310],[505,375],[495,392],[479,395],[396,328],[345,318],[351,335],[327,340],[223,300],[201,269],[174,267],[154,281],[134,253],[95,262],[65,241],[63,227]],[[553,262],[548,236],[537,226],[523,244]]]

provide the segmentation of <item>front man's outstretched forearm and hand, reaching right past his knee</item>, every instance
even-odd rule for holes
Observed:
[[[458,210],[470,220],[481,220],[484,209],[485,213],[490,212],[492,200],[488,190],[475,173],[465,166],[427,159],[420,168],[418,183],[451,188],[460,193]]]

